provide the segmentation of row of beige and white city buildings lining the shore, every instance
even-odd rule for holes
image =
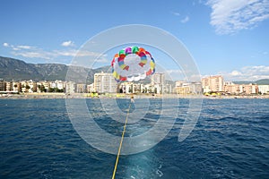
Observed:
[[[110,72],[94,73],[93,83],[74,81],[3,81],[0,79],[0,93],[74,93],[93,94],[180,94],[226,96],[226,95],[266,95],[269,94],[269,84],[244,83],[237,84],[224,81],[221,75],[208,76],[201,81],[166,81],[164,73],[154,73],[148,83],[122,81],[117,83]]]

